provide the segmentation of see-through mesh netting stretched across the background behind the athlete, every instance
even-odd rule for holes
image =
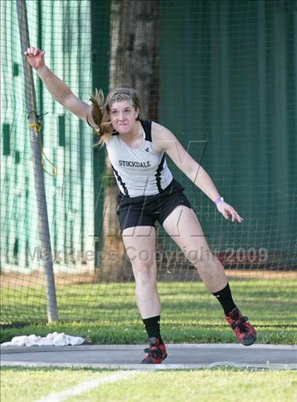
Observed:
[[[1,320],[46,321],[16,1],[0,5]],[[242,225],[226,222],[169,163],[231,280],[250,281],[241,290],[236,282],[241,302],[253,311],[268,297],[263,287],[275,287],[287,295],[281,323],[291,323],[281,311],[296,301],[297,282],[296,2],[30,0],[26,7],[31,44],[76,95],[88,101],[95,86],[136,87],[143,117],[172,130],[209,171]],[[120,321],[124,306],[137,318],[105,151],[34,77],[45,169],[57,166],[57,176],[45,172],[45,187],[59,318]],[[162,229],[158,235],[162,293],[194,321],[199,277]]]

